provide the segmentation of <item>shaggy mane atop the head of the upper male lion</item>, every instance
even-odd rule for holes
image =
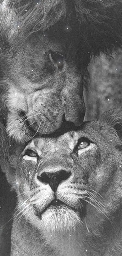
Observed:
[[[1,48],[18,47],[31,33],[70,24],[94,56],[112,51],[122,46],[121,10],[121,0],[0,0]]]

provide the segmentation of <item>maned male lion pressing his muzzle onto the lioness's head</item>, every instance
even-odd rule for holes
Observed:
[[[122,46],[121,10],[121,0],[0,0],[0,122],[9,138],[82,124],[87,66]]]

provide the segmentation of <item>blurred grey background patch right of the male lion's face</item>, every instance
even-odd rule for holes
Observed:
[[[92,120],[110,107],[122,104],[122,50],[92,59],[88,71],[90,85],[84,90],[85,120]]]

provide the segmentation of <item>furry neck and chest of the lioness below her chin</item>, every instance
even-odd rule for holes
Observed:
[[[101,246],[101,237],[93,234],[75,233],[70,237],[51,237],[50,241],[21,217],[13,221],[11,236],[11,256],[120,256],[121,236],[119,226],[109,232],[107,242]],[[84,232],[83,232],[84,233]],[[96,247],[92,247],[95,242]],[[104,235],[103,235],[104,240]],[[94,243],[93,243],[94,244]]]

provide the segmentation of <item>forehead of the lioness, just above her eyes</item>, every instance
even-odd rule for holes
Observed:
[[[106,137],[106,129],[107,125],[104,125],[102,129],[102,125],[98,121],[84,122],[77,130],[66,132],[58,137],[38,137],[29,142],[29,145],[31,148],[36,148],[38,153],[40,150],[47,151],[47,149],[48,152],[54,152],[59,148],[73,150],[81,137],[87,138],[96,144],[98,141],[102,141],[103,133],[104,137]],[[109,135],[107,135],[108,139]]]

